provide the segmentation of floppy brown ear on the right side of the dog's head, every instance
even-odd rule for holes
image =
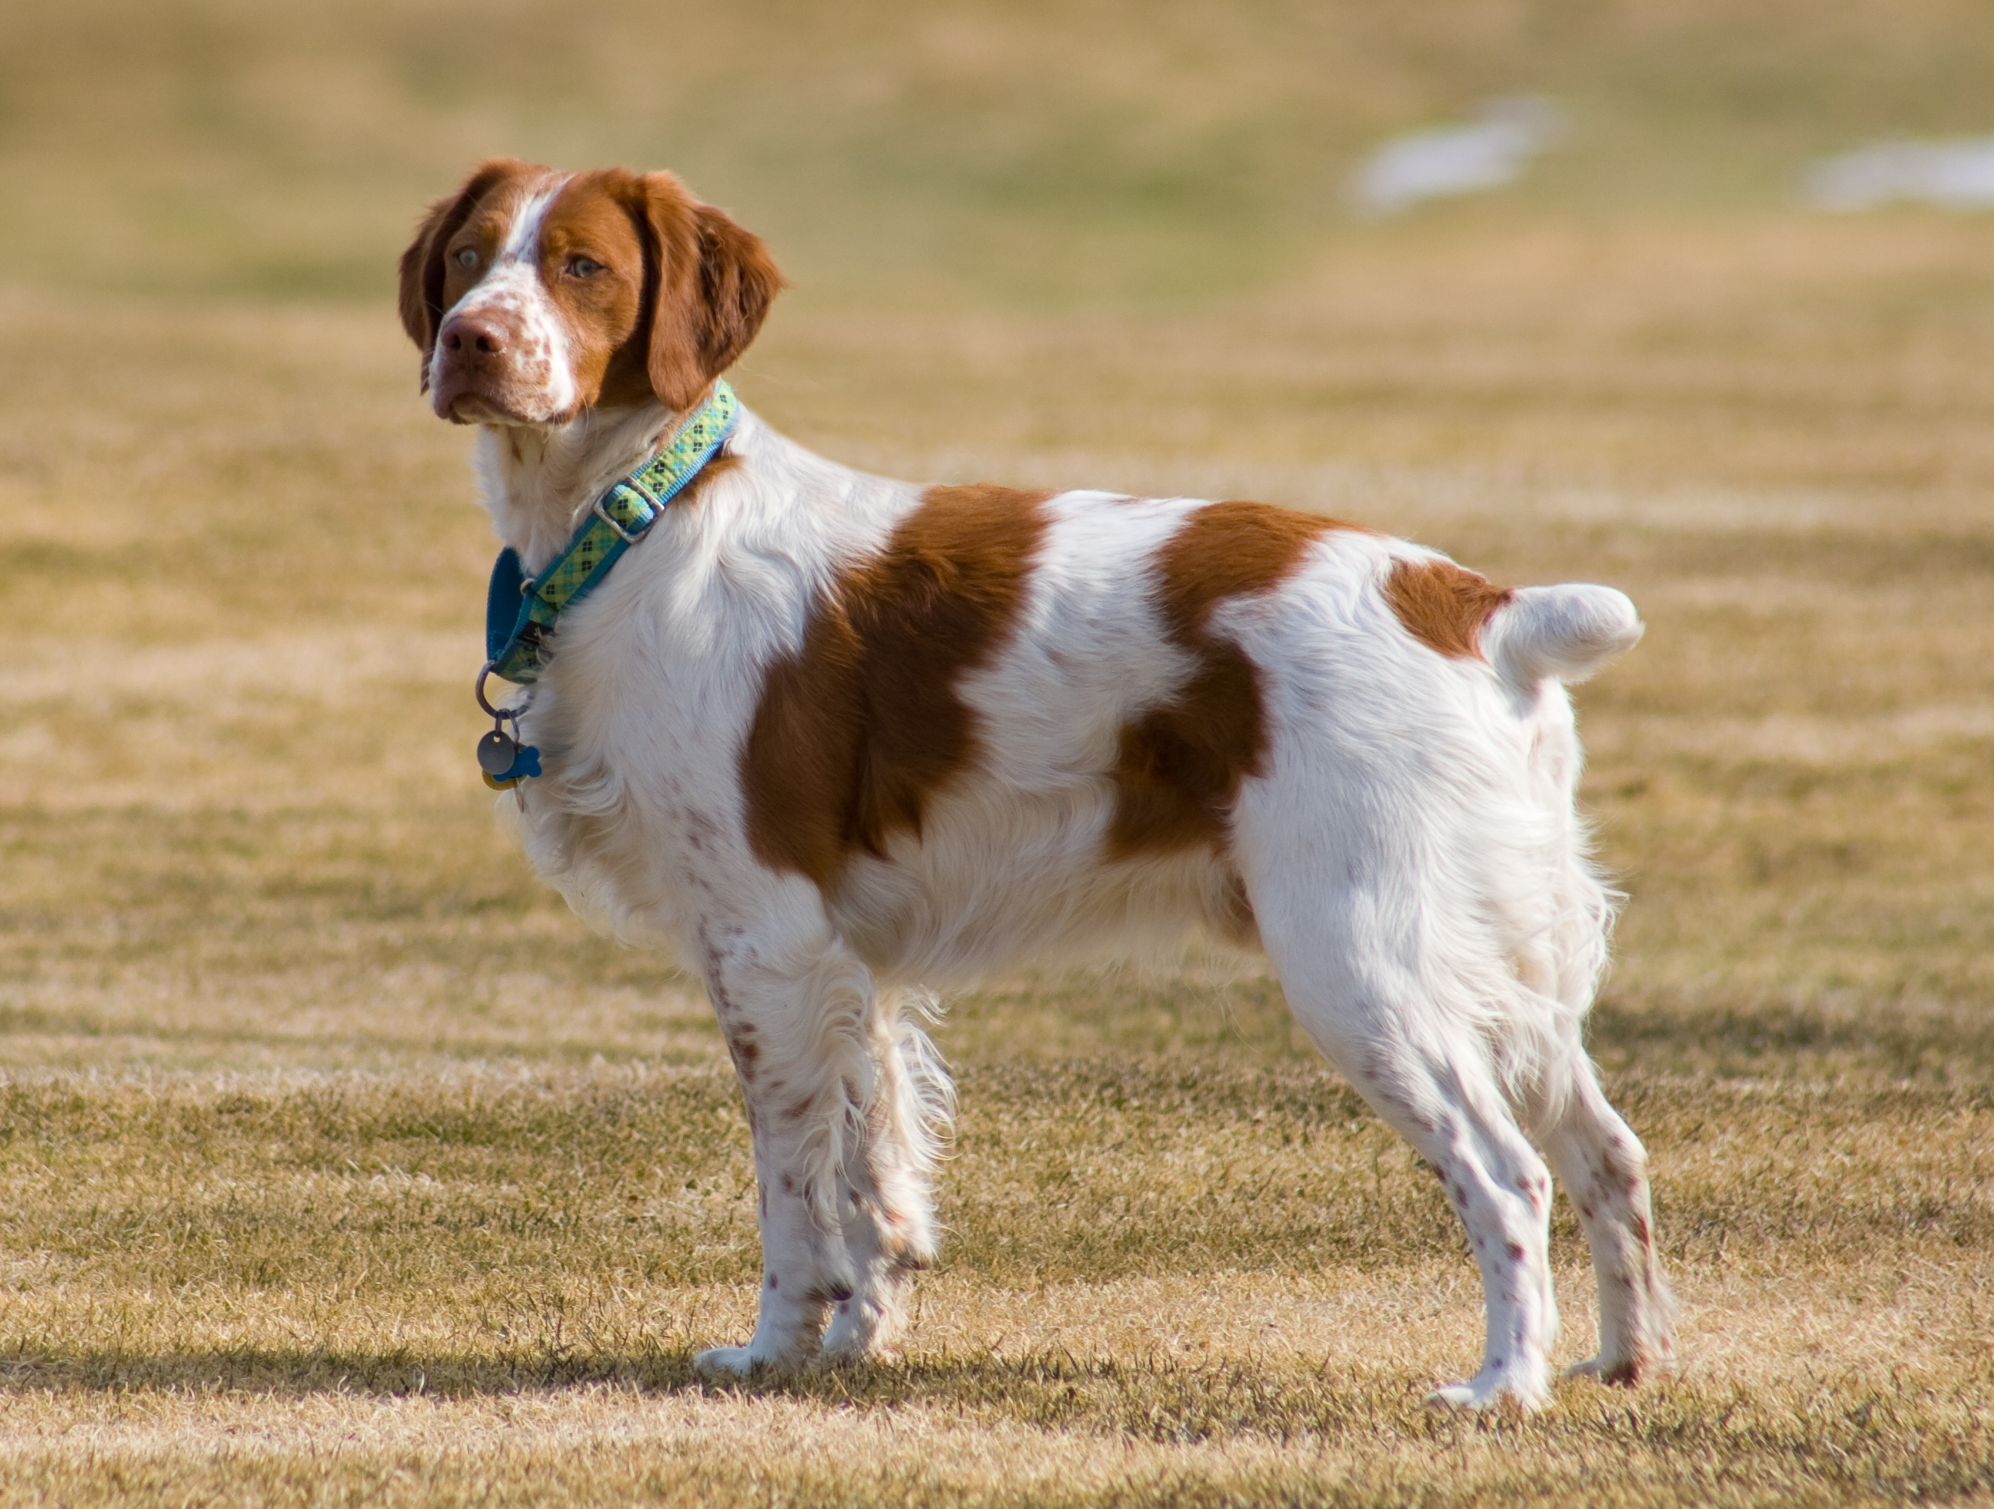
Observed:
[[[670,173],[638,181],[658,257],[650,387],[666,409],[690,409],[754,341],[782,291],[782,271],[760,235],[694,199]]]

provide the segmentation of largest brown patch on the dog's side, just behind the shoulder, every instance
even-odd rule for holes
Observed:
[[[921,833],[977,757],[961,678],[1011,632],[1051,492],[931,486],[877,556],[839,574],[804,648],[768,668],[742,746],[748,841],[830,889],[853,853]]]

